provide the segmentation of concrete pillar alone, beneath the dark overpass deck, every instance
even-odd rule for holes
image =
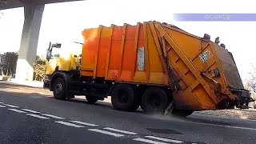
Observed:
[[[24,25],[22,30],[22,40],[18,51],[18,62],[16,68],[15,79],[18,80],[33,80],[38,36],[42,22],[42,13],[44,5],[25,6],[24,7]]]

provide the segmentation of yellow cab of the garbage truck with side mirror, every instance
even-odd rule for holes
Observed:
[[[46,53],[46,73],[43,79],[45,89],[50,88],[50,78],[56,71],[79,70],[82,46],[78,43],[49,43]]]

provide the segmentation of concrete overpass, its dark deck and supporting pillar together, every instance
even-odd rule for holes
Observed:
[[[0,10],[24,7],[24,24],[18,53],[16,78],[33,80],[33,63],[38,48],[38,36],[45,4],[81,0],[0,0]]]

